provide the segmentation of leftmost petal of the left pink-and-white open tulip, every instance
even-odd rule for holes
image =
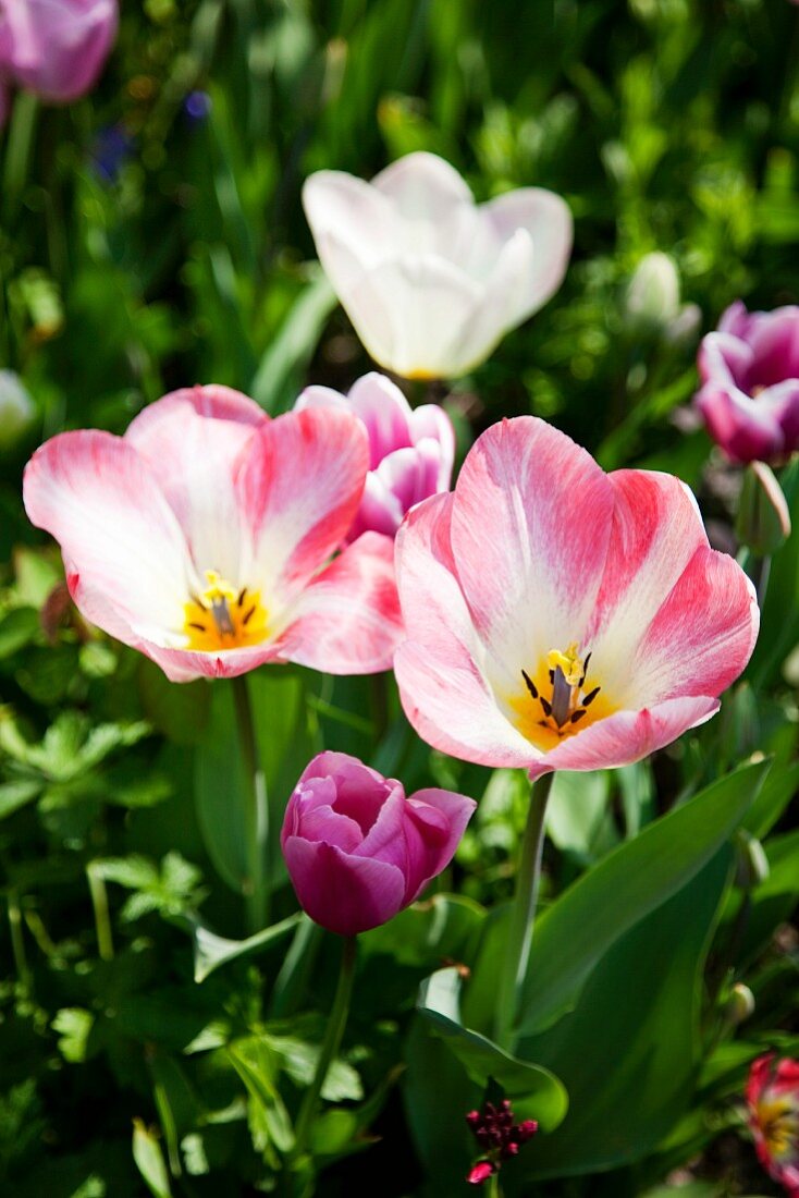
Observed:
[[[31,522],[60,543],[87,619],[128,645],[182,628],[188,547],[132,446],[109,432],[53,437],[28,464],[24,501]]]

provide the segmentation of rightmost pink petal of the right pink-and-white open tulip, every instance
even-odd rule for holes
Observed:
[[[641,702],[720,695],[749,661],[759,609],[727,553],[700,546],[649,624],[635,657]]]

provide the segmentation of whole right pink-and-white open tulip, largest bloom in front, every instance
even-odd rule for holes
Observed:
[[[397,540],[419,734],[455,757],[553,769],[637,761],[719,708],[755,645],[744,571],[668,474],[605,474],[534,417],[476,442],[452,495]]]

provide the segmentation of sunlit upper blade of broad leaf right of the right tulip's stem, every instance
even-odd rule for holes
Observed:
[[[728,840],[767,770],[768,762],[758,762],[708,786],[605,857],[540,915],[522,992],[521,1034],[540,1031],[574,1008],[615,942],[667,902]],[[484,968],[494,970],[495,964]]]

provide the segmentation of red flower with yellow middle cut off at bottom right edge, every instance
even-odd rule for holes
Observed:
[[[763,1168],[791,1198],[799,1198],[799,1060],[758,1057],[749,1073],[746,1103]]]

